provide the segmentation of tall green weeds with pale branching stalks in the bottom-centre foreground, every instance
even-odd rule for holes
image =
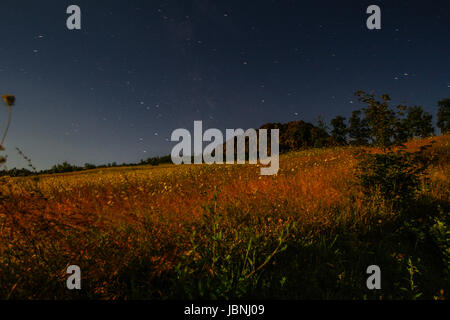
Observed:
[[[191,234],[191,249],[175,266],[171,294],[178,298],[236,299],[256,294],[264,268],[286,249],[286,238],[295,224],[272,241],[248,227],[230,233],[216,212],[217,198],[215,191],[204,206],[201,229]]]

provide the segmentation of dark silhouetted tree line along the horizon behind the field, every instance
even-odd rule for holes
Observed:
[[[331,119],[330,126],[318,117],[317,125],[299,120],[288,123],[266,123],[260,129],[280,130],[280,152],[285,153],[306,148],[322,148],[330,146],[376,146],[389,148],[392,145],[402,144],[413,138],[425,138],[435,134],[432,116],[424,111],[421,106],[397,105],[389,106],[391,98],[382,94],[376,98],[373,93],[357,91],[355,96],[365,106],[354,110],[348,120],[338,115]],[[437,127],[442,134],[450,133],[450,98],[438,101]],[[269,143],[270,145],[270,143]],[[248,140],[246,141],[246,153],[248,153]],[[21,153],[21,152],[19,152]],[[63,162],[54,165],[48,170],[36,171],[28,160],[32,170],[11,169],[0,171],[0,176],[28,176],[36,174],[52,174],[91,170],[109,167],[130,167],[137,165],[159,165],[172,163],[170,155],[153,157],[141,160],[139,163],[116,162],[106,165],[94,165],[86,163],[84,166],[76,166]]]

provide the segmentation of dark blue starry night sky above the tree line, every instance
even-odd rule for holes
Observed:
[[[66,27],[71,4],[80,31]],[[381,30],[366,28],[371,4]],[[0,12],[0,94],[17,97],[8,168],[26,166],[16,147],[38,169],[166,155],[194,120],[349,117],[359,89],[434,120],[450,96],[448,0],[2,0]]]

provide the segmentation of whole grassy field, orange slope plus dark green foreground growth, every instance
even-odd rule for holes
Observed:
[[[359,184],[356,148],[251,165],[3,178],[1,299],[444,299],[450,136],[401,213]],[[369,150],[380,152],[377,150]],[[66,288],[79,265],[82,290]],[[366,269],[381,268],[368,290]]]

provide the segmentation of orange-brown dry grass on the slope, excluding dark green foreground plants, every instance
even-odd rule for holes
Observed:
[[[432,140],[433,150],[448,154],[449,136]],[[429,142],[414,141],[408,148]],[[0,265],[8,278],[1,296],[61,298],[65,268],[79,264],[90,279],[88,296],[129,298],[118,280],[123,270],[145,256],[149,281],[173,271],[191,254],[189,239],[194,230],[204,232],[202,221],[210,211],[223,216],[220,228],[230,237],[245,229],[267,239],[277,239],[294,222],[293,238],[389,220],[393,212],[374,215],[363,201],[354,151],[286,154],[275,176],[260,176],[259,168],[249,165],[165,165],[4,178]],[[450,200],[449,169],[444,162],[430,172],[431,197]],[[239,243],[242,233],[234,237]],[[45,288],[34,293],[30,288],[37,286]],[[166,295],[163,288],[155,290],[153,296]]]

